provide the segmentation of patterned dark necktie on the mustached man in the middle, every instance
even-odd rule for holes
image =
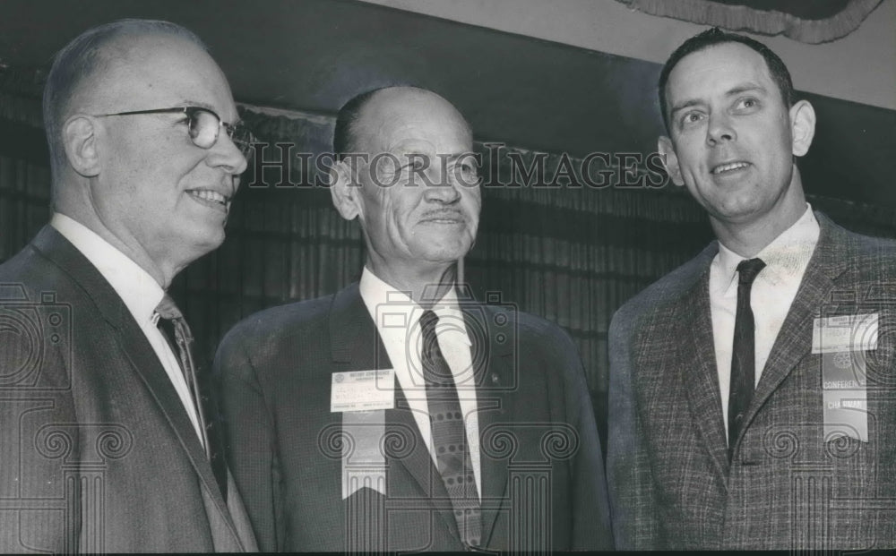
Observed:
[[[461,401],[454,387],[454,377],[435,337],[435,312],[420,316],[423,347],[420,361],[426,380],[426,403],[432,423],[435,460],[454,509],[461,539],[478,546],[482,517],[473,466],[467,449],[467,433],[463,426]]]

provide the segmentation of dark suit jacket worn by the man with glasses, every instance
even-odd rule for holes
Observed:
[[[256,549],[142,330],[48,226],[0,265],[0,446],[0,552]]]

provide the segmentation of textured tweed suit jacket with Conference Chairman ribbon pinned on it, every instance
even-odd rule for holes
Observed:
[[[625,304],[610,328],[609,483],[619,548],[896,545],[896,243],[816,213],[821,235],[736,439],[722,424],[711,244]],[[868,441],[825,438],[814,319],[880,314]]]

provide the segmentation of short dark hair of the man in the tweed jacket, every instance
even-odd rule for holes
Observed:
[[[769,73],[771,73],[772,81],[775,81],[778,85],[785,106],[793,106],[793,81],[790,79],[790,72],[788,72],[787,66],[784,65],[780,56],[775,54],[771,48],[766,47],[758,40],[745,37],[744,35],[737,35],[736,33],[728,33],[720,30],[718,27],[713,27],[712,29],[704,30],[699,34],[694,35],[694,37],[685,40],[685,42],[683,42],[680,47],[677,47],[675,52],[668,57],[666,64],[663,65],[663,69],[659,73],[659,84],[657,87],[659,90],[659,111],[663,116],[663,124],[666,125],[667,133],[670,131],[667,114],[668,106],[666,105],[666,85],[668,84],[669,73],[672,73],[675,66],[681,62],[682,58],[685,56],[694,54],[694,52],[699,52],[708,47],[728,42],[740,43],[759,53],[759,55],[762,56],[762,59],[765,60],[765,65],[768,67]]]

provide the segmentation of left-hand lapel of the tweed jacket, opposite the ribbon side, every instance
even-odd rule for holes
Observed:
[[[685,370],[682,378],[695,426],[706,442],[716,473],[727,476],[728,443],[712,338],[709,274],[704,272],[696,286],[670,307],[671,314],[660,317],[659,321],[674,323],[671,338],[684,338],[676,363],[670,368]],[[707,408],[711,410],[707,411]]]

